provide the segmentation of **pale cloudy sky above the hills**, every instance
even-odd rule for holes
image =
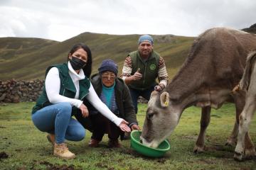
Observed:
[[[0,37],[197,36],[217,26],[250,27],[255,9],[255,0],[0,0]]]

